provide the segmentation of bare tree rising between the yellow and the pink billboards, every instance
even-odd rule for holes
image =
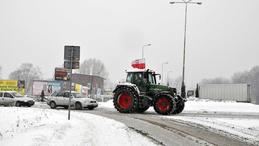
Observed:
[[[28,91],[32,88],[32,80],[39,80],[42,77],[43,73],[39,66],[33,67],[32,63],[22,63],[22,65],[17,68],[15,71],[12,71],[8,78],[11,80],[25,80],[25,91],[27,94]]]

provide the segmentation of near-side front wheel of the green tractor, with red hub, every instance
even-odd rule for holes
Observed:
[[[174,98],[169,94],[160,94],[153,101],[153,107],[157,114],[169,115],[175,109]]]

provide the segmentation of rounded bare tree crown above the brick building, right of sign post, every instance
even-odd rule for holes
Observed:
[[[98,75],[103,78],[108,78],[109,72],[106,69],[106,66],[100,59],[88,58],[85,59],[81,64],[80,68],[77,71],[81,74],[93,75],[97,72],[100,72]]]

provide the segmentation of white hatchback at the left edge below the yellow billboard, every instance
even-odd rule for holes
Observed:
[[[31,107],[35,103],[35,100],[29,97],[25,97],[16,91],[1,91],[0,92],[0,105],[4,106],[27,106]]]

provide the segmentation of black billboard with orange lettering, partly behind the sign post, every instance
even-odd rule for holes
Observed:
[[[70,81],[70,69],[55,68],[55,81]]]

